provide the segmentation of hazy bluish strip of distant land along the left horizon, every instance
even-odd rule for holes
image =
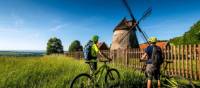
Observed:
[[[0,51],[0,56],[42,56],[44,51]]]

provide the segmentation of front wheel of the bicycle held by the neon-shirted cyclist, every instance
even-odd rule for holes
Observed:
[[[109,69],[105,76],[105,83],[109,87],[116,87],[120,83],[120,74],[116,69]]]

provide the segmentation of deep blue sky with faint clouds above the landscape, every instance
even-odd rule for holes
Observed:
[[[200,20],[200,0],[128,0],[139,25],[159,40],[183,35]],[[130,16],[122,0],[0,0],[0,50],[46,50],[48,39],[61,39],[64,50],[93,35],[108,45],[115,26]],[[140,43],[145,42],[137,32]]]

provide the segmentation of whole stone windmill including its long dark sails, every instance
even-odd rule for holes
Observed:
[[[149,7],[143,14],[143,16],[137,21],[133,15],[127,0],[123,0],[123,3],[128,10],[131,20],[124,18],[114,29],[111,50],[124,49],[124,48],[138,48],[139,43],[136,36],[136,30],[138,30],[147,41],[147,35],[142,31],[139,23],[151,14],[152,8]],[[148,42],[148,41],[147,41]]]

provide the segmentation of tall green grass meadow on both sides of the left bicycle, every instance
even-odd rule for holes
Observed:
[[[145,87],[144,75],[117,67],[121,86]],[[84,61],[52,55],[43,57],[0,57],[0,88],[64,88],[78,74],[88,72]]]

